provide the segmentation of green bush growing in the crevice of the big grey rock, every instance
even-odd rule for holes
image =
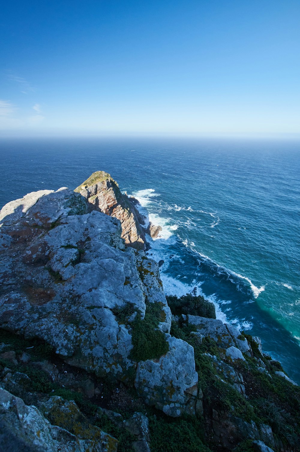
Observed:
[[[169,344],[165,334],[158,330],[161,305],[159,303],[146,303],[144,320],[136,315],[131,326],[132,345],[130,358],[136,362],[147,359],[159,359],[169,351]]]

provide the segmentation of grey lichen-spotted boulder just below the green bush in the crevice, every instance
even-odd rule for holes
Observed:
[[[159,360],[141,361],[136,372],[136,390],[149,405],[169,416],[195,413],[198,374],[194,350],[181,339],[167,335],[169,352]]]

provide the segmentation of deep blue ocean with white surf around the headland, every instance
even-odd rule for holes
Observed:
[[[163,227],[165,292],[197,287],[300,383],[299,142],[2,139],[0,158],[0,207],[112,174]]]

